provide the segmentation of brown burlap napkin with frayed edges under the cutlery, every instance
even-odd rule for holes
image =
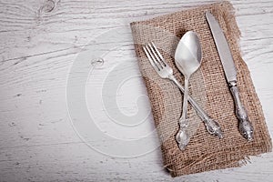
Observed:
[[[243,105],[254,126],[254,141],[248,142],[238,132],[234,101],[227,87],[217,49],[213,41],[205,12],[217,17],[230,45],[238,69],[238,88]],[[248,66],[242,60],[238,48],[239,30],[234,9],[228,2],[202,5],[170,15],[162,15],[147,21],[131,24],[139,68],[147,86],[152,113],[162,142],[164,167],[173,177],[213,169],[240,167],[248,156],[271,151],[265,117],[249,75]],[[175,135],[181,115],[182,94],[172,82],[157,76],[147,60],[142,46],[154,41],[181,84],[183,76],[174,64],[174,52],[179,38],[188,30],[197,32],[202,45],[202,65],[190,79],[190,93],[207,114],[216,119],[225,137],[218,139],[207,133],[197,114],[189,108],[191,140],[187,150],[178,149]],[[257,57],[258,58],[258,57]]]

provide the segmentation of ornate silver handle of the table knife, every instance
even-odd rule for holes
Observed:
[[[248,119],[248,112],[245,109],[245,107],[242,105],[239,94],[238,94],[238,86],[237,83],[230,82],[230,91],[232,93],[232,96],[235,101],[235,106],[236,106],[236,116],[238,117],[239,120],[239,125],[238,129],[239,132],[241,133],[242,136],[248,139],[248,141],[253,140],[253,126],[249,122]]]

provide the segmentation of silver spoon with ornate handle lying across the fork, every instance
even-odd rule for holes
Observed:
[[[177,45],[175,60],[177,68],[184,75],[185,78],[185,92],[183,99],[182,116],[179,119],[179,131],[177,132],[176,140],[180,150],[185,150],[189,142],[187,133],[188,119],[187,119],[187,95],[188,82],[190,76],[195,73],[201,65],[202,53],[201,45],[198,36],[193,31],[188,31],[182,36]]]

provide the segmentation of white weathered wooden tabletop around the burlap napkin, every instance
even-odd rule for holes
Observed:
[[[213,2],[1,0],[0,181],[272,181],[272,153],[176,178],[162,165],[129,23]],[[273,1],[231,3],[272,136]],[[115,28],[117,47],[101,45]]]

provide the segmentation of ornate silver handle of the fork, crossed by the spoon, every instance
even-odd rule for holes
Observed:
[[[181,92],[184,94],[185,89],[178,82],[177,78],[175,76],[169,76],[168,78],[172,80],[178,86]],[[204,122],[205,126],[207,127],[207,132],[211,135],[215,135],[215,136],[218,136],[219,138],[222,138],[223,132],[221,130],[221,127],[217,123],[217,121],[212,119],[210,116],[208,116],[207,113],[200,106],[198,106],[197,102],[192,98],[192,96],[188,95],[187,100],[191,104],[191,106],[194,107],[194,109],[197,111],[197,115]]]

